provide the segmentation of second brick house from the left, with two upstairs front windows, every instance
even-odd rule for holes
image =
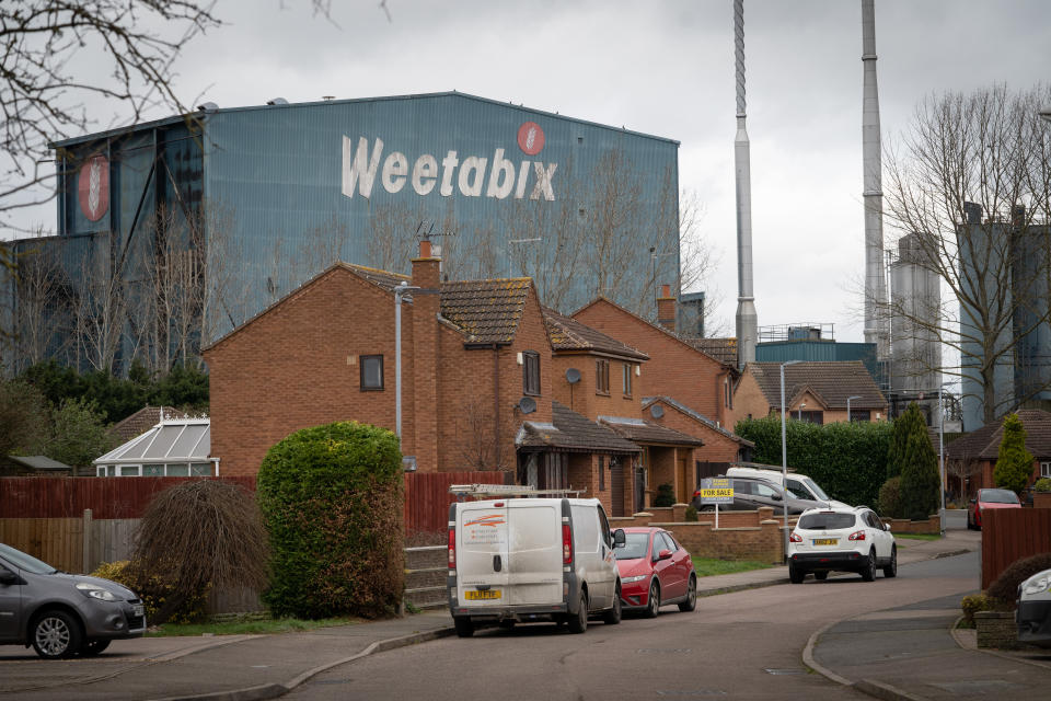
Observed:
[[[637,458],[624,464],[619,458],[609,466],[628,479],[624,508],[642,510],[651,506],[661,484],[672,486],[677,502],[688,503],[696,486],[693,464],[703,441],[695,436],[646,421],[642,398],[643,371],[649,357],[601,331],[552,309],[544,310],[553,349],[552,391],[557,402],[568,404],[639,448]],[[613,515],[622,505],[613,499]],[[624,515],[632,513],[627,510]]]

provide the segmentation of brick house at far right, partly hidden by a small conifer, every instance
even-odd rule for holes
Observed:
[[[1051,478],[1051,413],[1021,409],[1017,414],[1026,429],[1026,450],[1033,457],[1031,485],[1041,476]],[[946,445],[946,489],[951,494],[971,498],[978,490],[996,486],[993,470],[1003,439],[1004,417],[1001,417]]]

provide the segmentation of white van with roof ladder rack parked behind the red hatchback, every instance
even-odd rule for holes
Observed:
[[[452,504],[449,611],[457,634],[467,637],[486,621],[510,628],[550,620],[573,633],[587,630],[589,616],[620,623],[613,547],[623,542],[598,499],[509,495]]]

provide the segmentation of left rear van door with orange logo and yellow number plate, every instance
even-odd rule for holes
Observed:
[[[495,506],[499,504],[499,506]],[[461,606],[494,606],[507,600],[507,502],[466,502],[457,524],[457,599]]]

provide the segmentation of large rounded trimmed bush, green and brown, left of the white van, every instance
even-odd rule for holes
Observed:
[[[267,452],[257,495],[270,536],[263,600],[275,616],[367,618],[404,588],[402,453],[390,430],[337,422]]]

